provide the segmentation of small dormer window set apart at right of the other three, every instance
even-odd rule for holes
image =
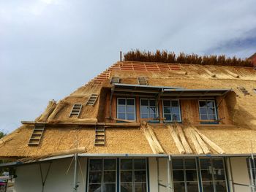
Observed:
[[[217,113],[214,100],[199,101],[200,120],[217,120]]]

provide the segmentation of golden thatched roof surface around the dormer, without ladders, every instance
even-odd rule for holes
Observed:
[[[211,74],[215,74],[213,77]],[[38,146],[28,146],[29,137],[34,126],[24,125],[16,131],[0,139],[0,157],[26,157],[45,155],[74,147],[86,147],[87,153],[152,153],[151,147],[140,128],[106,129],[106,145],[94,146],[94,126],[72,126],[78,122],[101,122],[104,116],[105,93],[111,88],[110,78],[118,76],[121,83],[138,84],[137,77],[146,77],[148,85],[173,86],[182,88],[232,88],[238,95],[230,102],[233,106],[230,120],[233,126],[202,127],[200,131],[209,139],[222,147],[226,153],[252,153],[256,151],[256,70],[252,67],[236,66],[202,66],[186,64],[159,64],[141,62],[118,62],[99,74],[94,80],[78,88],[57,104],[51,104],[53,109],[64,104],[54,117],[39,117],[37,122],[70,123],[69,126],[48,126]],[[237,89],[243,86],[249,91],[244,96]],[[94,106],[85,103],[91,93],[99,94]],[[73,104],[83,104],[79,118],[69,118]],[[48,107],[49,110],[49,107]],[[44,114],[42,114],[44,115]],[[40,120],[41,119],[41,120]],[[178,154],[178,149],[164,125],[154,125],[154,132],[165,153]],[[75,141],[75,142],[74,142]],[[191,141],[188,139],[189,144]],[[252,142],[252,148],[251,148]],[[193,150],[195,152],[195,150]],[[214,153],[214,151],[212,152]]]

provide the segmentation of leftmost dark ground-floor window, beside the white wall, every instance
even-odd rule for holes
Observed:
[[[89,160],[89,192],[116,191],[116,159]]]

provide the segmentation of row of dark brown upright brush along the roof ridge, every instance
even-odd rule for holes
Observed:
[[[156,52],[131,50],[124,54],[124,61],[157,62],[172,64],[201,64],[217,66],[253,66],[249,60],[241,58],[226,57],[225,55],[197,55],[167,52],[167,50],[157,50]]]

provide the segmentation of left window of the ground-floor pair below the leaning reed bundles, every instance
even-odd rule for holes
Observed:
[[[195,158],[173,158],[174,191],[199,191]]]

